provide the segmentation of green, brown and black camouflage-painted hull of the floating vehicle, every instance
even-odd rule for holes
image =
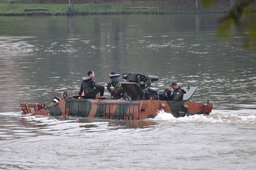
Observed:
[[[62,99],[54,104],[20,104],[22,111],[32,115],[97,117],[119,120],[154,118],[159,110],[175,117],[209,114],[212,104],[161,100]]]

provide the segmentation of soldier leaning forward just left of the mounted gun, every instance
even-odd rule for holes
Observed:
[[[124,96],[125,92],[124,92],[124,89],[122,88],[122,83],[124,82],[124,80],[120,77],[119,74],[116,74],[115,72],[110,72],[109,78],[110,79],[108,80],[107,89],[113,95],[113,99],[119,99],[122,97],[125,98],[125,96]],[[111,84],[115,88],[114,90],[112,90],[110,88]],[[123,94],[123,95],[121,95],[121,94]]]

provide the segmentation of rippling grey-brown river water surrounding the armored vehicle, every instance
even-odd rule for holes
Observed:
[[[243,36],[216,40],[222,14],[0,16],[0,169],[255,170],[256,60]],[[134,121],[24,115],[19,103],[78,94],[95,72],[196,85],[208,116]],[[110,96],[105,89],[105,95]]]

